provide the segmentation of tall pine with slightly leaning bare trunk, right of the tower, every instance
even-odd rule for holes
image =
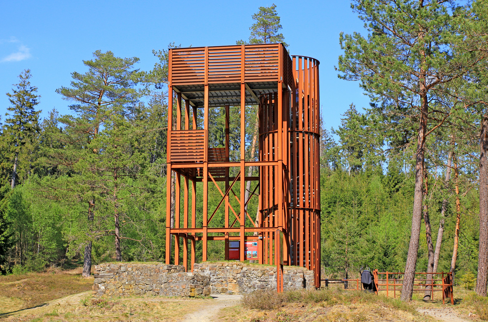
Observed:
[[[366,38],[359,33],[340,36],[345,51],[339,57],[340,77],[360,80],[371,99],[382,102],[385,118],[394,116],[405,131],[411,128],[411,121],[418,122],[415,136],[409,138],[417,139],[417,149],[404,301],[411,299],[417,263],[426,138],[444,123],[453,107],[449,84],[462,80],[479,64],[476,57],[456,52],[462,37],[452,22],[449,2],[355,0],[351,7],[366,22],[369,34]]]

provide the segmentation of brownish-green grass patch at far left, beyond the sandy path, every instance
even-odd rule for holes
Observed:
[[[81,268],[0,276],[0,314],[81,293],[92,285],[93,278],[81,277]]]

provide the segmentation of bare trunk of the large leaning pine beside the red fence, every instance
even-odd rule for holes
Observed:
[[[425,75],[425,73],[422,73]],[[420,225],[422,223],[422,199],[423,199],[423,179],[424,179],[424,157],[425,141],[427,134],[427,88],[425,83],[420,84],[422,113],[419,121],[419,131],[417,137],[417,152],[415,161],[415,191],[413,194],[412,209],[412,230],[410,242],[408,244],[407,262],[405,264],[405,275],[402,286],[402,301],[410,301],[413,293],[413,282],[415,279],[415,267],[417,265],[417,253],[419,250]]]

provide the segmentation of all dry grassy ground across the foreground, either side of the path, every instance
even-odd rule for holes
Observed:
[[[0,322],[86,321],[86,322],[180,322],[184,316],[215,305],[210,299],[130,297],[113,300],[93,299],[93,278],[81,278],[81,269],[0,276]],[[219,322],[362,322],[436,321],[419,314],[417,307],[451,308],[472,321],[488,321],[488,298],[455,289],[455,305],[423,301],[415,293],[411,303],[384,294],[379,296],[329,287],[319,291],[274,291],[246,295],[239,305],[222,309]],[[397,292],[397,296],[400,293]],[[26,309],[35,307],[31,309]],[[6,314],[7,313],[7,314]]]

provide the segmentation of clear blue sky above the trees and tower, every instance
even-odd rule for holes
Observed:
[[[120,57],[139,57],[138,68],[156,62],[152,49],[175,41],[183,47],[235,44],[247,40],[252,14],[273,1],[2,1],[0,12],[0,113],[20,72],[29,68],[39,87],[42,116],[56,107],[70,113],[55,90],[68,86],[82,60],[100,49]],[[347,0],[279,1],[290,54],[320,60],[320,98],[325,126],[337,128],[351,102],[358,110],[368,98],[357,82],[337,78],[339,33],[365,33]]]

